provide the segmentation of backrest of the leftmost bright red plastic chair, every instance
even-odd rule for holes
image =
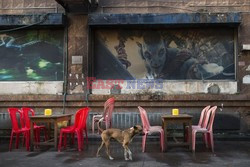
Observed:
[[[8,108],[8,112],[10,114],[10,120],[12,124],[12,130],[18,131],[21,128],[18,125],[18,118],[17,114],[19,114],[19,119],[20,119],[20,124],[21,127],[24,127],[24,122],[23,122],[23,114],[18,108]]]

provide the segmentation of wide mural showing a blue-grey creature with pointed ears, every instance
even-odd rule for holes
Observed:
[[[234,80],[234,30],[96,30],[99,79]]]

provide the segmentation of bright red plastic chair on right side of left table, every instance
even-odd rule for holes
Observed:
[[[78,151],[81,151],[83,149],[83,144],[84,144],[83,131],[85,131],[85,133],[87,132],[86,121],[87,121],[89,110],[90,109],[88,107],[78,110],[75,115],[74,125],[61,129],[60,139],[59,139],[59,144],[58,144],[59,152],[61,151],[63,135],[64,135],[64,148],[66,148],[66,143],[67,143],[66,134],[68,133],[71,133],[71,134],[76,133],[77,141],[78,141]],[[88,138],[87,133],[86,133],[86,138]]]

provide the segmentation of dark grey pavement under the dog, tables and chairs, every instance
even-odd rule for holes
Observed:
[[[160,152],[158,141],[147,141],[146,152],[141,152],[140,138],[131,143],[133,160],[125,161],[120,144],[112,141],[111,154],[115,158],[109,160],[105,149],[101,157],[96,157],[98,140],[89,141],[84,151],[78,152],[76,144],[66,150],[57,152],[53,148],[41,147],[34,152],[25,151],[24,147],[8,151],[8,141],[0,142],[0,167],[161,167],[161,166],[215,166],[215,167],[249,167],[250,141],[215,141],[215,153],[206,149],[202,142],[197,143],[196,153],[185,147],[170,147],[167,152]]]

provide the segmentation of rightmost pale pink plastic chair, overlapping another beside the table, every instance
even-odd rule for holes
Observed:
[[[215,117],[215,111],[217,106],[210,108],[203,119],[203,124],[201,127],[193,127],[192,128],[192,151],[195,151],[195,142],[196,142],[196,133],[204,133],[205,134],[205,142],[209,144],[212,148],[212,152],[214,152],[214,140],[213,140],[213,123]]]

